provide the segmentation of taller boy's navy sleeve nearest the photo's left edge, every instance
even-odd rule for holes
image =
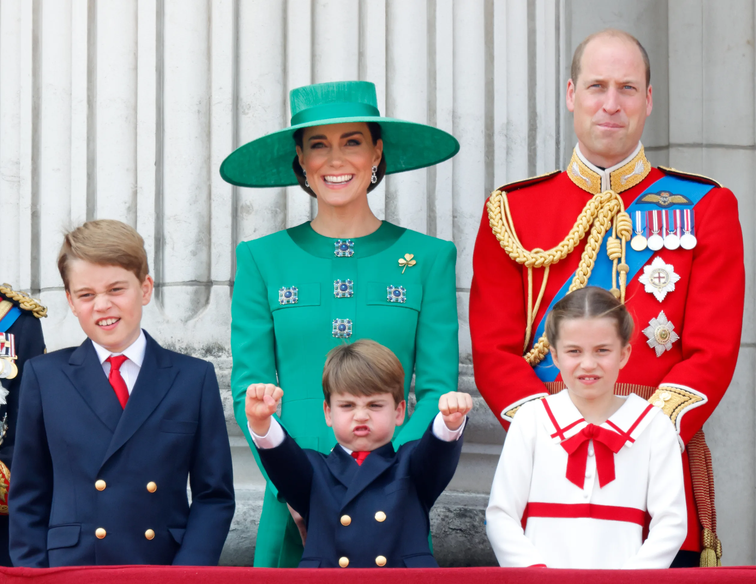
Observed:
[[[18,567],[46,568],[53,472],[33,362],[23,367],[20,394],[13,483],[8,491],[11,560]]]

